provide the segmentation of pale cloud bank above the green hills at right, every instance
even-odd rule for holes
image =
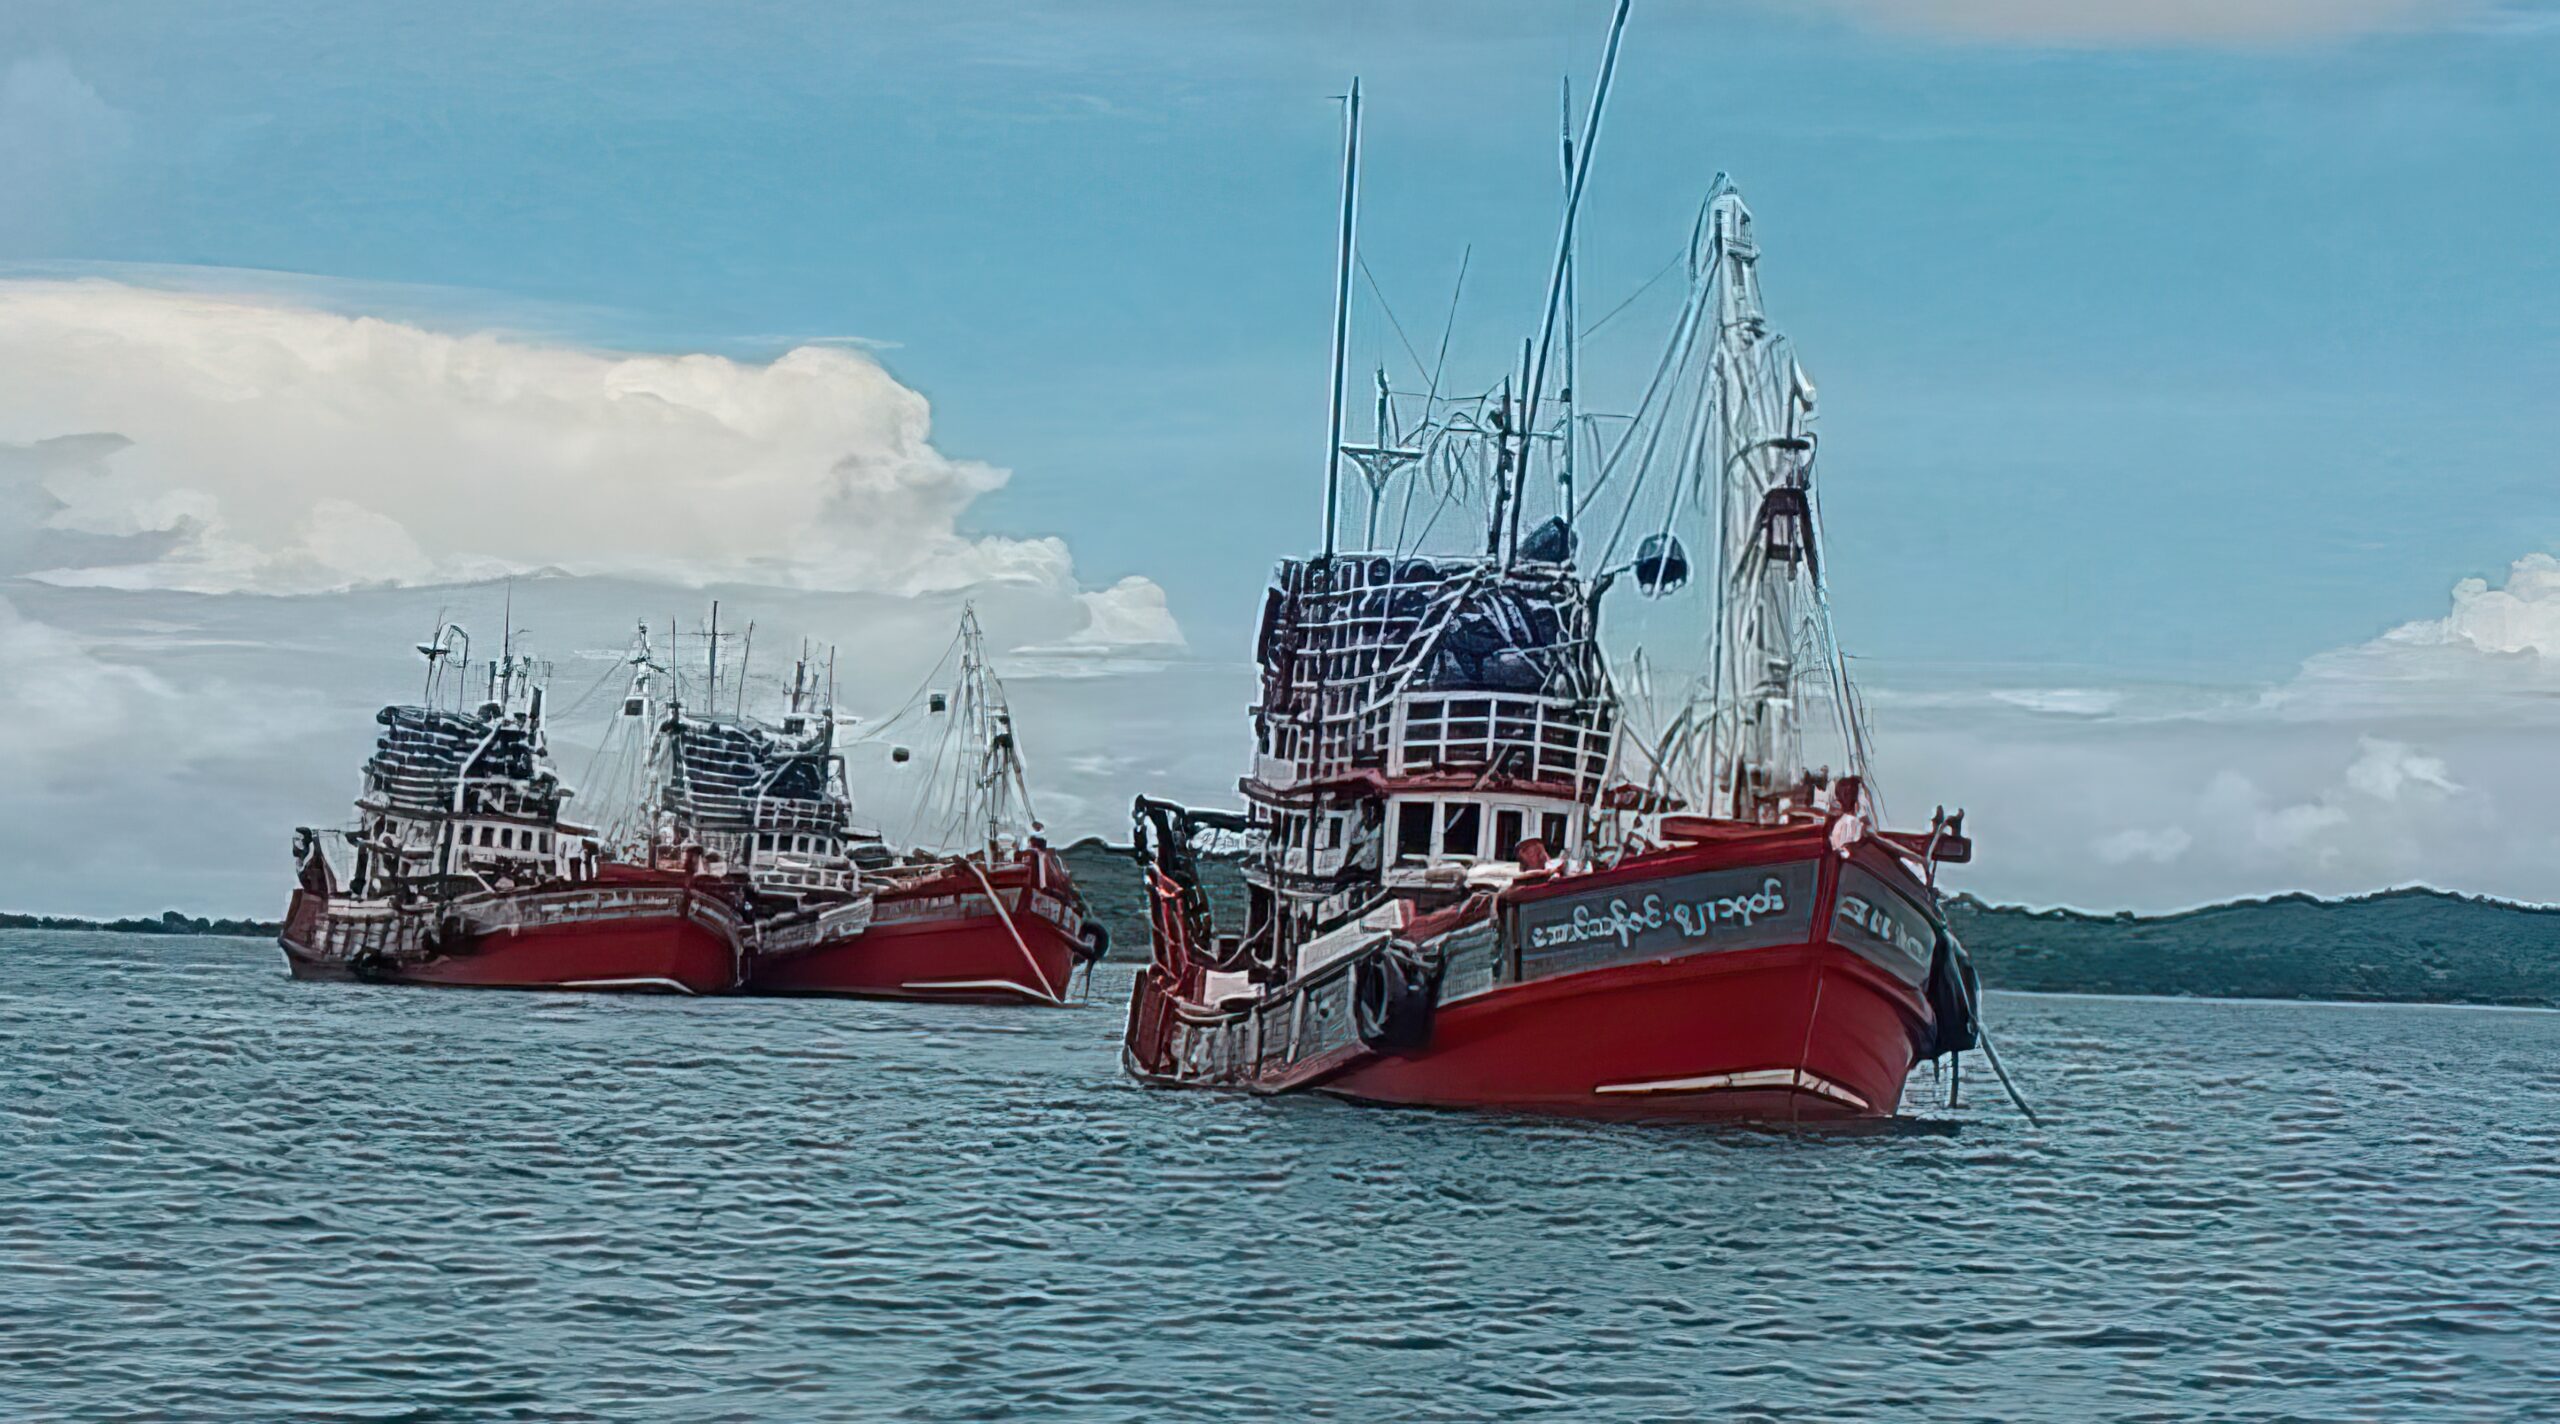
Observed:
[[[2547,902],[2560,863],[2560,558],[2463,579],[2437,617],[2268,686],[2117,684],[2081,699],[1879,694],[1900,809],[1969,804],[1958,881],[2166,909],[2432,884]]]

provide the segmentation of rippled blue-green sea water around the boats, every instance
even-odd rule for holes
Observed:
[[[2560,1416],[2560,1014],[1989,996],[1951,1129],[0,935],[5,1419]]]

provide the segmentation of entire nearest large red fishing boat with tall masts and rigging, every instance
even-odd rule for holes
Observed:
[[[1326,540],[1265,602],[1249,809],[1137,804],[1152,963],[1124,1063],[1149,1083],[1823,1122],[1894,1114],[1912,1063],[1979,1042],[1935,896],[1935,866],[1969,855],[1961,814],[1876,825],[1820,566],[1815,392],[1723,179],[1633,415],[1577,407],[1574,210],[1623,20],[1564,143],[1564,236],[1518,369],[1454,400],[1380,374],[1367,443],[1341,438],[1352,87]],[[1357,551],[1344,461],[1367,476]],[[1531,502],[1551,517],[1523,535]],[[1467,533],[1434,548],[1413,522]],[[1715,551],[1705,599],[1679,597],[1692,525]],[[1585,530],[1605,530],[1595,558]],[[1603,607],[1702,645],[1695,676],[1656,692],[1677,661],[1605,645]],[[1838,776],[1805,758],[1815,720]],[[1244,855],[1239,925],[1201,886],[1208,835]]]

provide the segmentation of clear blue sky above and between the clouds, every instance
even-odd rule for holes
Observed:
[[[1198,656],[1242,656],[1318,530],[1331,95],[1364,79],[1388,305],[1428,353],[1472,246],[1452,369],[1492,379],[1554,241],[1556,85],[1590,82],[1605,15],[18,0],[0,274],[251,269],[228,282],[740,361],[860,341],[942,456],[1011,471],[955,497],[960,535],[1062,540],[1078,587],[1149,579]],[[1853,653],[1910,686],[2258,697],[2560,546],[2555,136],[2537,3],[1638,0],[1585,312],[1731,172],[1823,384]],[[1633,389],[1669,297],[1590,343],[1585,389]],[[1354,356],[1413,374],[1367,287]],[[0,410],[0,441],[56,433]],[[2353,871],[2419,873],[2447,878]]]

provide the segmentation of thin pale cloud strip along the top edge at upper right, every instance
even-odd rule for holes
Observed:
[[[2015,44],[2253,46],[2460,20],[2476,0],[1828,0],[1861,20]]]

